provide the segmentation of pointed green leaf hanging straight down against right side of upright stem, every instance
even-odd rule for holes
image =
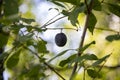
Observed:
[[[96,23],[97,23],[97,19],[94,16],[94,14],[91,13],[89,18],[89,23],[88,23],[88,29],[92,34],[93,34]]]

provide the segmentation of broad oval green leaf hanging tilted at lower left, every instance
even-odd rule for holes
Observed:
[[[9,69],[12,69],[13,67],[15,67],[18,62],[19,62],[19,55],[20,55],[21,49],[19,49],[18,51],[15,51],[15,53],[13,53],[6,62],[6,66]]]

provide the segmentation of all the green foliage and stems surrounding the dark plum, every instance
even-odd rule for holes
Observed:
[[[52,66],[50,62],[63,56],[70,50],[76,51],[77,54],[74,53],[59,62],[60,69],[73,69],[73,72],[71,72],[73,75],[70,76],[70,79],[75,78],[74,74],[78,71],[74,70],[74,68],[77,67],[79,69],[83,67],[84,70],[87,71],[88,76],[92,79],[100,78],[100,71],[106,61],[109,60],[111,54],[104,55],[100,58],[96,55],[97,53],[86,53],[90,46],[95,45],[96,42],[92,41],[86,45],[83,45],[83,43],[87,29],[94,35],[96,24],[99,21],[99,19],[96,18],[96,12],[106,13],[106,15],[114,14],[120,17],[120,2],[118,0],[116,0],[118,3],[109,0],[48,0],[62,8],[60,14],[68,17],[68,20],[74,27],[79,26],[79,14],[84,13],[86,15],[86,23],[83,27],[84,31],[80,47],[77,49],[64,50],[50,60],[45,57],[49,55],[49,51],[46,47],[47,42],[39,36],[39,33],[46,31],[46,26],[55,23],[61,18],[53,22],[48,21],[42,27],[38,27],[39,25],[36,23],[35,19],[24,17],[25,15],[19,12],[19,6],[22,4],[21,2],[24,1],[1,1],[3,2],[0,3],[0,49],[4,48],[4,51],[0,54],[0,61],[3,60],[4,68],[12,72],[10,79],[44,80],[50,75],[46,72],[51,70],[65,80],[57,71],[57,66]],[[66,8],[68,4],[70,5],[69,10]],[[106,10],[104,10],[104,6],[107,6],[105,7]],[[106,37],[106,40],[110,42],[119,39],[119,34]],[[8,47],[9,50],[5,50],[5,47]],[[76,64],[76,66],[73,66],[74,64]],[[85,76],[84,74],[84,77]]]

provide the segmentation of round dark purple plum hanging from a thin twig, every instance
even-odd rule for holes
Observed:
[[[67,37],[64,33],[58,33],[55,36],[55,43],[59,47],[63,47],[67,42]]]

